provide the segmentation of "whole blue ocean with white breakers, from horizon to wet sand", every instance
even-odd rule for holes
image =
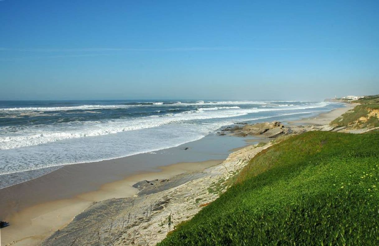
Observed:
[[[308,117],[330,102],[0,101],[0,188],[67,164],[154,152],[234,122]]]

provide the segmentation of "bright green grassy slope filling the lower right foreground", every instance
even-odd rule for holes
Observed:
[[[379,245],[378,164],[375,132],[292,136],[158,245]]]

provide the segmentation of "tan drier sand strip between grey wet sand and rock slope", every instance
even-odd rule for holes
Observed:
[[[103,184],[97,190],[80,193],[69,198],[42,203],[38,200],[37,204],[25,207],[6,217],[6,221],[11,221],[12,224],[2,229],[3,245],[38,245],[44,238],[66,226],[75,215],[83,212],[91,204],[111,198],[135,195],[138,189],[132,186],[141,180],[170,178],[183,172],[202,170],[220,162],[222,160],[171,164],[160,167],[159,171],[141,172],[119,181]],[[56,176],[55,173],[52,173],[52,176]],[[13,238],[19,238],[19,240],[15,241]]]

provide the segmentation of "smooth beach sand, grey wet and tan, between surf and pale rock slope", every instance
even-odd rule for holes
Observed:
[[[38,245],[94,202],[133,196],[138,192],[133,184],[144,179],[167,179],[214,166],[235,147],[249,145],[246,140],[256,141],[208,135],[153,153],[66,165],[0,189],[3,198],[0,217],[11,224],[2,229],[2,245]],[[189,149],[183,150],[183,147]]]

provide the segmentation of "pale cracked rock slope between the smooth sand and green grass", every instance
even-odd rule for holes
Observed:
[[[93,204],[65,228],[42,242],[52,245],[154,245],[182,221],[227,188],[228,179],[252,156],[266,149],[249,145],[237,150],[216,166],[150,181],[140,192],[120,199]],[[142,182],[145,183],[145,182]],[[146,182],[147,183],[147,182]],[[153,184],[154,189],[147,190]]]

